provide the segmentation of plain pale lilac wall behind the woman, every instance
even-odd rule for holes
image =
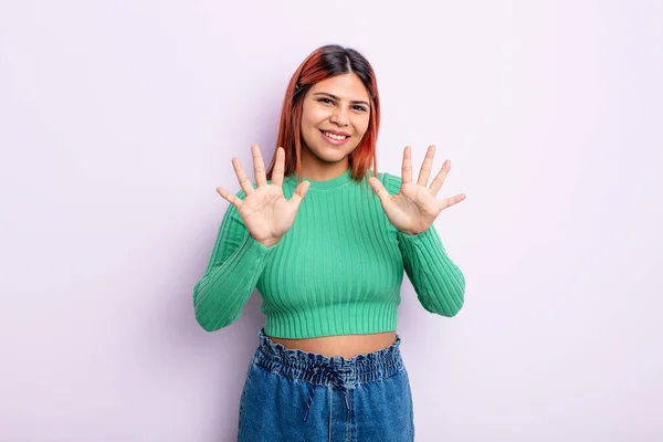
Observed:
[[[201,276],[315,48],[372,63],[379,170],[413,147],[467,280],[399,317],[419,441],[663,440],[657,1],[3,1],[0,440],[230,441],[256,332]],[[297,407],[297,404],[293,404]]]

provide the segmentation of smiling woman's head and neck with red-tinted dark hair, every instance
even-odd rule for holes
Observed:
[[[313,51],[294,72],[283,101],[276,146],[285,149],[285,176],[323,181],[350,168],[359,182],[371,167],[377,176],[379,126],[378,84],[368,60],[338,45]]]

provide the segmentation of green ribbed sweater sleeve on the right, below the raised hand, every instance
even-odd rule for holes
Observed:
[[[390,194],[400,190],[401,178],[385,173]],[[430,313],[454,316],[464,303],[465,276],[449,257],[434,224],[419,234],[397,232],[403,266],[419,302]]]

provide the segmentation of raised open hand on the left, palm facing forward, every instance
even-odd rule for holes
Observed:
[[[257,145],[251,146],[251,154],[253,156],[256,188],[253,188],[253,183],[244,173],[240,159],[233,158],[232,166],[245,197],[242,200],[220,187],[217,188],[217,192],[238,209],[246,230],[255,241],[269,248],[276,244],[293,225],[309,183],[302,181],[295,189],[293,197],[286,200],[283,196],[285,150],[282,147],[276,149],[276,164],[271,183],[267,183],[260,147]]]

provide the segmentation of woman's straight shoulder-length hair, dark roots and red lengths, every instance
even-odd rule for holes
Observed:
[[[285,151],[284,176],[297,173],[302,182],[302,110],[306,92],[316,83],[348,73],[355,73],[364,83],[370,102],[370,117],[366,134],[359,145],[348,156],[351,168],[351,178],[361,181],[366,171],[372,166],[373,176],[378,176],[378,160],[376,156],[376,141],[380,127],[380,97],[378,84],[372,66],[359,52],[328,44],[313,51],[297,67],[285,91],[281,122],[278,124],[278,138],[274,148],[274,156],[266,171],[266,178],[272,179],[276,164],[276,148],[283,147]]]

